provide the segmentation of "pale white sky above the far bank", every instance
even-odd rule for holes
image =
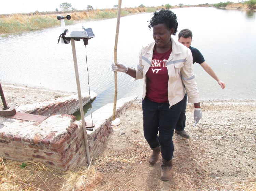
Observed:
[[[183,3],[184,5],[195,5],[202,3],[218,3],[221,1],[222,0],[122,0],[122,7],[138,7],[140,4],[145,6],[159,6],[167,3],[170,5],[177,5],[179,3]],[[12,0],[1,2],[0,14],[55,11],[56,8],[60,10],[59,5],[63,2],[71,3],[72,7],[76,8],[77,10],[84,10],[86,9],[87,5],[91,5],[94,9],[96,9],[112,8],[114,5],[118,4],[118,0]]]

